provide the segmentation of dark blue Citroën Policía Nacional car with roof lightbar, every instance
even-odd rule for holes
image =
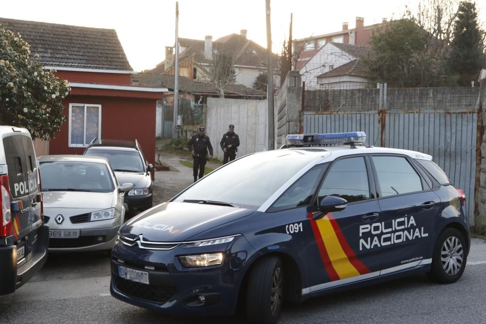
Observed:
[[[359,145],[363,132],[287,141],[127,222],[111,294],[180,315],[241,303],[250,322],[276,323],[284,302],[418,272],[461,277],[466,197],[430,155]]]

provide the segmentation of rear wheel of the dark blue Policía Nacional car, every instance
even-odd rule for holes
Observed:
[[[446,228],[437,239],[430,277],[443,284],[456,282],[467,262],[464,235],[455,228]]]

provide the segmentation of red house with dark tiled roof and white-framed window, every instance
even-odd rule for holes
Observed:
[[[64,101],[67,120],[48,147],[37,146],[37,155],[82,154],[95,136],[137,138],[155,162],[156,101],[167,88],[131,85],[136,72],[115,30],[7,18],[0,24],[20,33],[32,54],[71,88]]]

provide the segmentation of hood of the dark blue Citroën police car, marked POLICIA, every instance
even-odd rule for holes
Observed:
[[[131,219],[121,227],[120,234],[130,239],[142,235],[144,240],[156,242],[184,241],[253,212],[220,205],[164,203]]]

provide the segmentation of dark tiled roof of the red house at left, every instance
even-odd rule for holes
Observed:
[[[9,18],[0,18],[0,25],[20,33],[46,66],[133,70],[114,29]]]

